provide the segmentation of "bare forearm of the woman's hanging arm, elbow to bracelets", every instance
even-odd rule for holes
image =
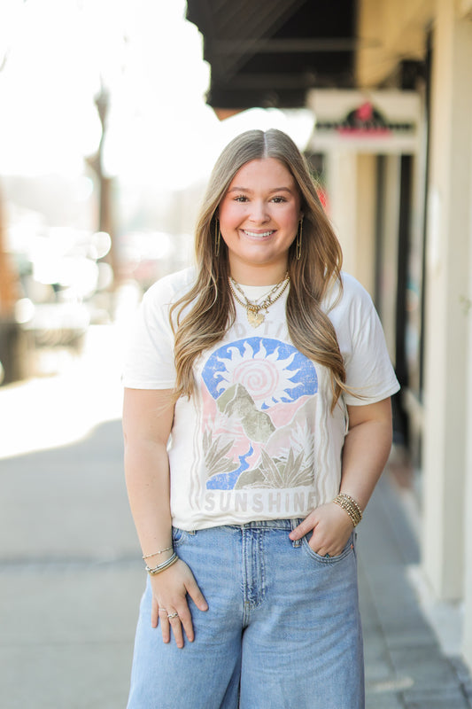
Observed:
[[[129,506],[143,555],[172,546],[169,465],[166,446],[141,440],[125,443]],[[152,565],[172,552],[155,556]]]

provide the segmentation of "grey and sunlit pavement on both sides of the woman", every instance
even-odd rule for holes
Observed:
[[[0,388],[1,709],[126,706],[145,578],[122,470],[123,341],[92,328],[58,376]],[[388,469],[359,530],[368,709],[472,707],[459,651],[420,603],[414,525]]]

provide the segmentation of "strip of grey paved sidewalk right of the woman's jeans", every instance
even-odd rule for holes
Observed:
[[[472,680],[458,648],[445,654],[422,611],[418,543],[388,468],[359,541],[368,709],[471,707]]]

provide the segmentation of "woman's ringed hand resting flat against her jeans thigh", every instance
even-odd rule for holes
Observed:
[[[151,626],[158,627],[160,620],[164,643],[170,642],[171,628],[178,648],[183,647],[183,631],[192,643],[195,635],[187,594],[200,611],[207,611],[208,604],[189,566],[179,559],[165,571],[151,575],[151,588]]]

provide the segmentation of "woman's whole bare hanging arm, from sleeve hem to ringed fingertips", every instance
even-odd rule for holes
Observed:
[[[167,441],[174,420],[172,390],[125,388],[123,434],[125,476],[129,505],[151,570],[151,626],[157,627],[159,611],[162,639],[170,640],[170,620],[177,647],[183,647],[182,628],[194,638],[187,594],[200,611],[208,605],[188,565],[174,557],[170,511],[170,478]],[[170,548],[170,549],[169,549]],[[159,554],[163,549],[164,553]],[[164,569],[157,569],[169,561]],[[182,625],[181,625],[182,624]]]

